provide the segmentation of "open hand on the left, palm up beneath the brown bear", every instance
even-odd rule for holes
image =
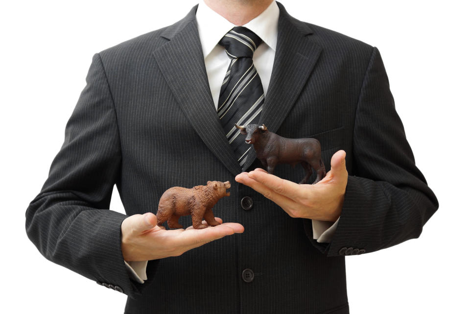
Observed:
[[[215,219],[221,224],[205,229],[190,226],[186,229],[164,230],[157,226],[157,217],[152,213],[132,215],[121,224],[122,256],[128,262],[180,256],[192,248],[244,231],[239,223],[222,223],[222,219]],[[202,223],[207,225],[205,220]]]

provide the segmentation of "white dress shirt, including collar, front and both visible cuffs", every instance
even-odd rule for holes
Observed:
[[[263,85],[264,95],[268,92],[269,80],[273,71],[274,55],[278,36],[279,7],[276,1],[256,18],[244,24],[263,41],[255,50],[253,63]],[[230,64],[225,48],[218,45],[220,39],[233,27],[238,26],[227,21],[213,11],[204,1],[200,1],[196,11],[197,29],[202,45],[204,63],[209,80],[215,109],[219,100],[220,88]],[[334,222],[312,220],[313,239],[318,242],[330,242],[336,230],[339,218]],[[143,283],[147,279],[145,269],[147,261],[126,262],[127,270],[135,281]]]

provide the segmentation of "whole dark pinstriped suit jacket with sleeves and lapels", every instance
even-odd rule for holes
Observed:
[[[347,153],[344,206],[330,243],[235,182],[240,169],[218,121],[193,7],[181,21],[94,54],[65,140],[26,211],[27,235],[49,260],[128,295],[125,313],[349,313],[345,255],[412,238],[438,207],[415,166],[377,48],[298,21],[280,7],[278,48],[260,122],[287,138],[317,138],[327,171]],[[302,167],[276,174],[298,182]],[[172,186],[229,180],[214,207],[243,234],[126,272],[113,186],[127,215],[156,213]],[[311,178],[313,181],[313,178]],[[251,210],[240,199],[250,196]],[[182,217],[184,226],[190,217]],[[244,269],[254,272],[245,282]],[[111,285],[111,286],[109,286]]]

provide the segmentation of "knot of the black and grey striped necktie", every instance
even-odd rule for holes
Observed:
[[[253,58],[253,53],[261,43],[261,38],[244,26],[235,26],[219,41],[219,45],[225,48],[232,59]]]

